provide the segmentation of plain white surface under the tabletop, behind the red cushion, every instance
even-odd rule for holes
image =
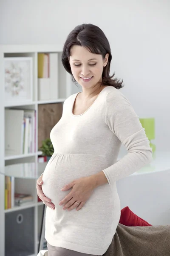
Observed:
[[[117,181],[121,209],[128,206],[152,225],[170,225],[170,170]]]

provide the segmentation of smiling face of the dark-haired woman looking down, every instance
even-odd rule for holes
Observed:
[[[84,88],[93,87],[102,81],[103,67],[108,63],[108,54],[103,60],[102,55],[94,54],[85,47],[74,45],[69,58],[74,79]]]

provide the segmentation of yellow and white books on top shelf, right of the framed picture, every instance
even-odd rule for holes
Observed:
[[[58,97],[58,53],[38,53],[38,98]]]

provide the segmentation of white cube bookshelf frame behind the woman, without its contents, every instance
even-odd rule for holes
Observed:
[[[38,53],[58,54],[58,98],[40,100],[38,87]],[[36,256],[40,236],[40,223],[43,212],[42,202],[38,202],[36,181],[44,171],[46,163],[38,163],[38,156],[42,154],[38,151],[38,107],[41,104],[63,103],[73,93],[80,91],[72,81],[71,76],[64,70],[61,62],[61,45],[1,45],[0,46],[0,255],[6,256],[5,250],[5,230],[6,216],[17,214],[17,211],[24,211],[33,208],[34,212],[34,251],[29,256]],[[32,100],[9,103],[5,100],[5,58],[32,57]],[[5,151],[5,111],[7,109],[35,110],[35,150],[26,154],[6,154]],[[24,170],[27,170],[24,172]],[[15,206],[5,209],[5,176],[13,176],[15,188],[20,193],[31,193],[34,200],[23,206]],[[14,229],[14,228],[13,228]],[[16,230],[13,230],[16,232]],[[17,233],[16,233],[17,234]],[[13,255],[13,254],[12,254]],[[25,254],[24,254],[25,255]]]

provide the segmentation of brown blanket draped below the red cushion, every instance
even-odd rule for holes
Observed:
[[[119,223],[103,256],[170,256],[170,225],[127,227]]]

